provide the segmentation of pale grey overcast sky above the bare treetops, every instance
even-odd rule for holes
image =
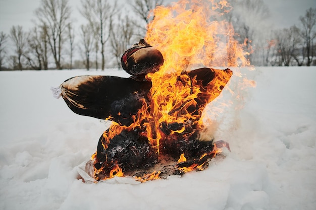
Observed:
[[[119,0],[119,2],[124,1],[126,0]],[[270,8],[270,19],[275,28],[287,28],[298,24],[299,16],[303,16],[310,7],[316,8],[316,0],[265,0],[264,2]],[[69,0],[69,3],[73,10],[73,18],[79,22],[80,0]],[[13,25],[21,25],[24,30],[33,27],[34,10],[39,5],[40,0],[0,0],[0,31],[9,34]]]

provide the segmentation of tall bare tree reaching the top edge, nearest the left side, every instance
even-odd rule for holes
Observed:
[[[67,39],[66,33],[71,15],[68,0],[41,0],[41,5],[35,11],[35,14],[41,24],[47,26],[47,41],[56,68],[62,69],[62,49]]]

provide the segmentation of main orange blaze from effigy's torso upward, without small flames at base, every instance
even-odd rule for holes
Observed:
[[[195,121],[200,126],[197,129],[202,128],[199,116],[204,107],[195,115],[185,111],[194,105],[200,84],[195,81],[191,84],[187,76],[181,75],[182,72],[198,65],[237,67],[250,64],[245,57],[248,53],[243,50],[245,44],[239,44],[233,38],[235,33],[232,25],[223,19],[223,15],[229,11],[230,5],[224,0],[219,3],[214,0],[179,1],[169,7],[154,9],[154,19],[148,25],[145,40],[161,51],[165,62],[160,71],[147,75],[147,79],[152,82],[150,109],[153,118],[147,132],[149,135],[152,133],[150,141],[158,153],[162,138],[159,130],[161,123],[177,122],[185,125]],[[225,77],[222,74],[218,77]],[[187,83],[182,85],[179,81]],[[213,94],[208,102],[219,95],[220,91],[217,90],[221,90],[225,84],[214,84],[213,89],[207,92]],[[182,133],[185,130],[183,126],[175,132]]]

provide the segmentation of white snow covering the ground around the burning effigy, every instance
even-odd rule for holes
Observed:
[[[70,77],[125,72],[0,72],[0,209],[315,209],[316,67],[243,72],[256,88],[234,76],[239,100],[227,88],[219,99],[236,102],[214,133],[231,153],[204,171],[139,184],[76,179],[109,123],[76,115],[50,91]]]

